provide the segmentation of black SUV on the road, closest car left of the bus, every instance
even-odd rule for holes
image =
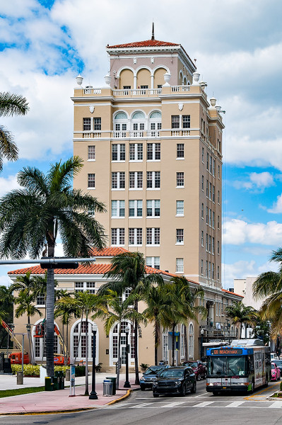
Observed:
[[[161,394],[180,394],[196,392],[196,375],[192,368],[173,367],[164,369],[153,382],[153,397]]]

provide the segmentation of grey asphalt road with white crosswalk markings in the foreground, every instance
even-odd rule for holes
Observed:
[[[152,397],[152,392],[136,391],[128,399],[81,413],[0,416],[2,425],[282,425],[282,401],[267,400],[279,382],[260,388],[253,395],[213,396],[206,381],[197,382],[196,394],[186,397]]]

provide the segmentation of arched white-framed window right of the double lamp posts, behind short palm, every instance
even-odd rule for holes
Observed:
[[[134,327],[129,322],[122,322],[121,323],[121,335],[120,335],[120,357],[122,360],[122,365],[126,364],[126,356],[127,356],[127,334],[125,333],[125,328],[129,326],[129,336],[128,336],[128,343],[129,343],[129,363],[131,361],[134,361],[135,353],[134,353]],[[115,324],[112,329],[111,334],[112,339],[112,363],[117,362],[117,356],[119,352],[119,323]]]

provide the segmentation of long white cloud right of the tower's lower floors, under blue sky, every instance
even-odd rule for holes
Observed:
[[[262,244],[280,246],[282,224],[276,221],[247,223],[244,220],[228,220],[223,229],[223,244]]]

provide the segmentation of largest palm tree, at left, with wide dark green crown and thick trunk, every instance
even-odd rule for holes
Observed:
[[[83,166],[79,157],[51,165],[47,175],[32,167],[18,173],[23,188],[0,200],[0,257],[39,258],[47,246],[53,258],[58,232],[69,257],[90,256],[93,246],[105,246],[104,229],[89,210],[105,211],[96,198],[71,188]],[[54,375],[54,269],[47,269],[47,375]]]

